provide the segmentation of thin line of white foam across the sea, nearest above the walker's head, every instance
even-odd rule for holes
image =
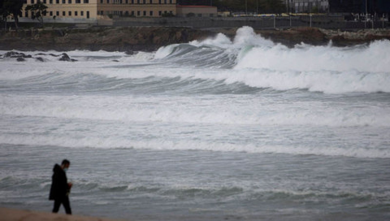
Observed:
[[[342,147],[310,147],[310,146],[269,146],[269,145],[238,145],[231,143],[206,143],[200,141],[171,141],[171,140],[148,140],[133,141],[129,139],[119,139],[84,136],[81,138],[25,135],[23,139],[17,135],[0,135],[1,143],[13,145],[53,145],[72,148],[134,148],[152,150],[204,150],[220,152],[247,152],[247,153],[272,153],[272,154],[292,154],[292,155],[320,155],[320,156],[346,156],[346,157],[369,157],[369,158],[389,158],[388,149],[371,148],[342,148]]]

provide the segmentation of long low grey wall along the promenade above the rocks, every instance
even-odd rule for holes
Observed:
[[[279,16],[279,17],[218,17],[218,18],[113,18],[115,27],[164,26],[191,28],[242,27],[289,28],[317,27],[327,29],[388,28],[382,21],[344,21],[343,16]]]

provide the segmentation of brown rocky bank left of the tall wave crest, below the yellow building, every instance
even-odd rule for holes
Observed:
[[[0,33],[0,50],[154,51],[167,44],[212,36],[191,28],[126,27],[82,30],[27,30]]]

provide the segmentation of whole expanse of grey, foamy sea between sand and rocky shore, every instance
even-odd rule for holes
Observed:
[[[67,158],[74,214],[390,219],[388,40],[287,48],[242,27],[152,53],[67,51],[77,62],[24,53],[45,62],[0,59],[0,207],[51,211]]]

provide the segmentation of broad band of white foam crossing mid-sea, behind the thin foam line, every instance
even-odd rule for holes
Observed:
[[[150,104],[145,104],[147,99]],[[390,107],[360,103],[359,108],[333,106],[324,102],[267,104],[266,100],[246,103],[230,99],[216,105],[214,100],[176,101],[151,97],[110,96],[0,96],[0,113],[15,116],[41,116],[122,122],[183,122],[202,124],[374,126],[390,125]],[[271,102],[271,101],[269,101]],[[184,105],[185,104],[185,105]],[[229,107],[227,109],[227,107]]]

